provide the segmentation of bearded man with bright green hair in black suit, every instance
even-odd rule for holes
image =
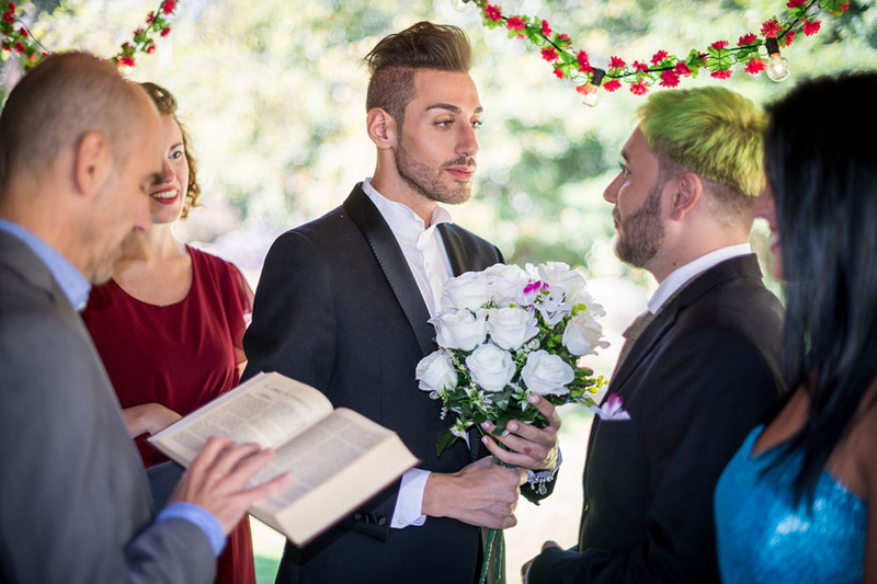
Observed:
[[[594,420],[578,547],[546,542],[529,584],[719,582],[713,491],[779,397],[782,308],[747,243],[763,115],[704,88],[639,116],[604,193],[617,255],[659,283],[608,387],[629,419]]]

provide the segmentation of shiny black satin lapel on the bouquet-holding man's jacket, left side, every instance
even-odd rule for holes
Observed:
[[[435,329],[428,322],[430,311],[387,221],[358,185],[353,187],[344,202],[344,210],[372,247],[396,300],[414,331],[421,352],[429,355],[435,351]]]

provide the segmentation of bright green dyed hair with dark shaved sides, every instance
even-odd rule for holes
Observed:
[[[639,107],[640,128],[661,161],[696,172],[713,184],[717,203],[741,217],[764,187],[764,113],[724,88],[652,93]]]

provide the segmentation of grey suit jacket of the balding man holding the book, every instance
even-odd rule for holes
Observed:
[[[0,582],[212,582],[201,529],[153,515],[79,314],[39,257],[0,231]]]

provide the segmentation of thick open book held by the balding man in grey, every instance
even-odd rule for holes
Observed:
[[[251,515],[303,546],[413,467],[396,433],[339,408],[310,386],[259,374],[162,430],[149,443],[189,467],[213,435],[274,448],[257,484],[291,471],[293,483]]]

